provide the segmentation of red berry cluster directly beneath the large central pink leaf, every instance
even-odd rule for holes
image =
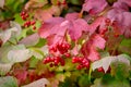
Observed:
[[[57,44],[56,46],[50,48],[51,51],[53,52],[59,51],[61,54],[68,52],[69,49],[70,49],[70,45],[67,42]]]

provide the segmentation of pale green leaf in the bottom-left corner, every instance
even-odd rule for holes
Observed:
[[[17,82],[12,76],[0,77],[0,87],[19,87]]]

